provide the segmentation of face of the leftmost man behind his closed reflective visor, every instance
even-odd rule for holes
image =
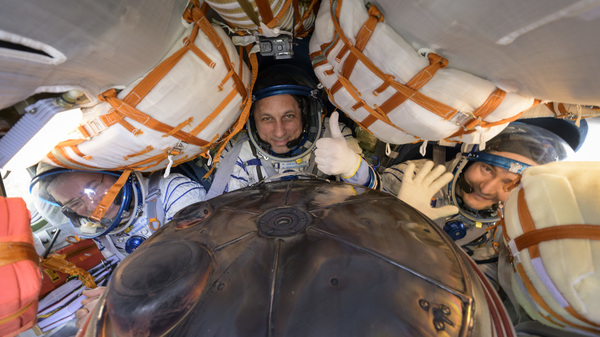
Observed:
[[[117,177],[98,172],[72,172],[57,175],[48,192],[63,207],[83,217],[92,215]],[[116,217],[119,207],[111,204],[105,218]]]

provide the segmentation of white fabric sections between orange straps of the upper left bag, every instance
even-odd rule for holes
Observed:
[[[227,48],[229,59],[234,63],[233,69],[236,72],[239,71],[240,59],[230,38],[220,27],[214,26],[213,28]],[[190,30],[186,31],[178,38],[177,43],[166,55],[171,55],[179,50],[183,46],[183,38],[189,36],[189,32]],[[196,136],[211,142],[222,137],[231,127],[241,112],[244,98],[237,92],[232,78],[223,83],[222,89],[219,88],[218,85],[227,78],[229,70],[219,51],[202,30],[198,33],[195,45],[214,63],[214,68],[188,51],[136,108],[171,127],[176,127],[192,118],[191,122],[181,129],[181,131],[189,133],[215,111],[222,102],[226,101],[229,95],[233,95],[233,99]],[[250,71],[246,64],[242,64],[241,67],[242,74],[240,76],[244,85],[247,86],[250,81]],[[139,81],[141,78],[120,92],[118,97],[124,98]],[[93,122],[98,116],[108,114],[111,110],[112,106],[106,102],[86,109],[82,124]],[[173,136],[164,136],[163,133],[129,118],[126,118],[126,121],[139,128],[142,133],[136,136],[120,124],[114,124],[77,146],[79,151],[89,157],[78,156],[71,148],[64,148],[71,161],[65,159],[58,149],[53,150],[52,155],[68,166],[81,164],[95,168],[115,169],[165,153],[166,150],[175,148],[179,143],[179,140]],[[151,146],[153,150],[135,157],[127,157],[140,153],[148,146]],[[172,160],[174,162],[189,160],[201,153],[202,150],[201,147],[187,144],[180,154],[172,157]],[[155,171],[165,168],[168,163],[169,161],[165,158],[158,165],[149,169],[140,169],[140,171]]]

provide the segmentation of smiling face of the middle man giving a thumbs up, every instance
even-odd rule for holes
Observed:
[[[265,97],[254,103],[254,122],[258,136],[275,153],[286,153],[287,143],[302,134],[302,115],[292,95]]]

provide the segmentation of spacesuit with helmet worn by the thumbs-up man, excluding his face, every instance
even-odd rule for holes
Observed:
[[[277,95],[293,96],[301,111],[302,131],[300,136],[290,139],[286,144],[288,149],[286,153],[275,152],[269,140],[261,139],[254,118],[256,102]],[[376,188],[377,174],[360,156],[362,151],[356,139],[352,137],[352,131],[345,125],[337,123],[337,112],[334,112],[335,116],[332,114],[332,122],[339,125],[339,130],[333,130],[333,135],[338,139],[343,137],[345,143],[338,142],[334,146],[340,146],[341,151],[347,152],[344,158],[337,159],[333,158],[330,152],[326,152],[331,148],[331,144],[327,142],[335,138],[332,137],[327,119],[325,119],[327,126],[323,127],[324,110],[321,95],[315,82],[300,69],[291,65],[271,66],[261,72],[254,86],[254,103],[246,124],[247,133],[236,136],[227,144],[221,154],[208,197],[250,186],[267,177],[288,172],[339,174],[344,181]],[[319,154],[322,157],[320,160]],[[325,164],[328,162],[333,162],[334,165]],[[344,166],[349,169],[339,169]]]

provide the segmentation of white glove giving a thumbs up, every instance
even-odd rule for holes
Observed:
[[[341,174],[342,178],[352,177],[360,165],[360,156],[346,144],[346,139],[340,131],[338,112],[334,111],[329,117],[331,138],[317,140],[315,163],[321,172],[329,175]]]

